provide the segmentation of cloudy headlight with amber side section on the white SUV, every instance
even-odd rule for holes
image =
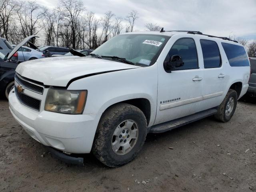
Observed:
[[[49,89],[44,110],[66,114],[82,114],[86,97],[87,90]]]

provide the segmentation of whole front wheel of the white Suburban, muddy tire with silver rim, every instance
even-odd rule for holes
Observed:
[[[132,124],[130,131],[126,130],[130,124]],[[124,130],[125,132],[123,132]],[[113,135],[114,131],[118,136]],[[130,133],[131,136],[129,135]],[[135,134],[137,138],[132,139]],[[116,104],[104,112],[100,119],[92,153],[106,166],[122,166],[138,155],[146,140],[146,134],[147,122],[143,112],[130,104]],[[120,138],[121,135],[122,137]],[[118,148],[118,145],[122,146]],[[124,146],[130,146],[131,148],[125,150]]]

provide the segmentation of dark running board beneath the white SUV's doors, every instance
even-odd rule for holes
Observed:
[[[178,118],[178,119],[175,119],[175,120],[171,120],[171,121],[168,121],[168,122],[164,122],[164,123],[161,123],[161,124],[154,125],[154,126],[148,128],[148,132],[150,132],[150,133],[162,133],[162,132],[170,131],[174,128],[189,124],[191,122],[200,120],[202,118],[211,116],[211,115],[216,114],[216,113],[217,113],[217,110],[215,108],[211,108],[211,109],[204,110],[204,111],[201,111],[201,112],[198,112],[198,113],[195,113],[195,114],[192,114],[192,115],[188,115],[188,116],[185,116],[185,117],[182,117],[182,118]]]

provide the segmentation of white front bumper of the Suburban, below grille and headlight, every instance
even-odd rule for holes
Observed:
[[[13,92],[9,108],[24,130],[43,145],[68,153],[90,153],[101,114],[38,112],[21,104]]]

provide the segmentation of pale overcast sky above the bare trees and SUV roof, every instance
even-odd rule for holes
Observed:
[[[58,0],[36,0],[49,8]],[[216,36],[256,39],[256,0],[82,0],[87,11],[100,17],[111,10],[125,17],[137,10],[135,30],[157,23],[165,30],[199,30]]]

